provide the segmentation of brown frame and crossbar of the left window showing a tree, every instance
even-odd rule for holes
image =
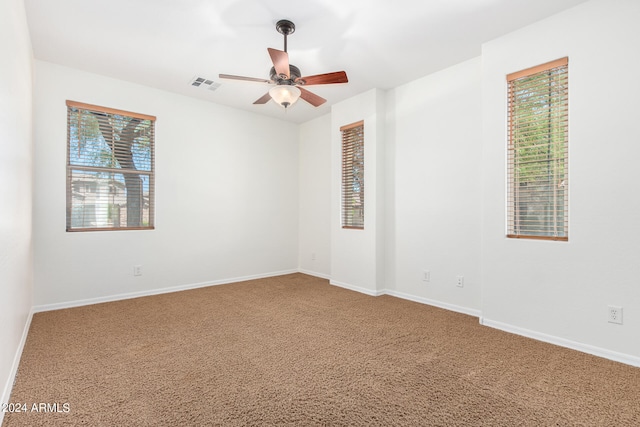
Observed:
[[[103,107],[98,105],[92,105],[82,102],[76,101],[66,101],[67,106],[67,152],[66,152],[66,231],[67,232],[92,232],[92,231],[134,231],[134,230],[154,230],[155,229],[155,122],[156,117],[148,114],[140,114],[134,113],[131,111],[119,110],[115,108]],[[71,114],[72,111],[85,111],[85,112],[93,112],[108,116],[124,116],[126,118],[139,119],[141,121],[149,121],[149,170],[141,170],[136,169],[135,164],[133,168],[123,168],[122,166],[119,168],[115,167],[102,167],[102,166],[88,166],[82,164],[72,164],[71,161]],[[86,114],[86,113],[82,113]],[[91,113],[88,113],[91,114]],[[104,135],[102,135],[104,138]],[[105,140],[106,141],[106,140]],[[115,142],[114,142],[115,143]],[[96,227],[74,227],[73,226],[73,215],[72,211],[74,208],[73,204],[73,189],[74,189],[74,181],[73,175],[74,171],[85,171],[85,172],[105,172],[109,174],[135,174],[135,175],[144,175],[148,178],[148,223],[147,225],[140,226],[113,226],[113,227],[104,227],[104,226],[96,226]],[[135,171],[135,172],[132,172]],[[111,181],[118,182],[115,179],[111,178]],[[77,185],[77,184],[76,184]],[[89,184],[86,184],[89,185]],[[141,184],[142,186],[142,184]],[[97,187],[95,185],[94,187]],[[109,193],[115,190],[115,187],[112,189],[112,185],[109,184]],[[126,188],[126,185],[125,185]],[[91,191],[88,191],[91,192]],[[140,191],[140,215],[142,216],[143,206],[145,204],[145,193],[144,191]],[[111,209],[111,205],[108,207]],[[142,219],[141,219],[142,222]]]

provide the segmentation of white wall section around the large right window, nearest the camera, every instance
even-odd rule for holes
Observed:
[[[484,45],[484,323],[640,363],[640,2],[594,0]],[[506,239],[505,75],[569,57],[569,242]],[[624,324],[607,323],[607,305]],[[616,355],[616,353],[620,353]],[[629,358],[628,356],[631,356]]]

